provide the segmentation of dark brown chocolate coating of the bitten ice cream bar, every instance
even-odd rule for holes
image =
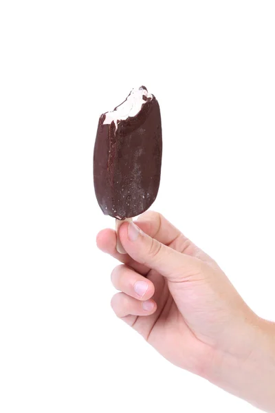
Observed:
[[[144,87],[144,89],[146,89]],[[153,95],[152,95],[153,96]],[[126,120],[98,123],[94,147],[94,187],[106,215],[124,220],[151,207],[159,189],[162,123],[155,96]]]

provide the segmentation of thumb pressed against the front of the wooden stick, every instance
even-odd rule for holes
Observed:
[[[175,251],[145,234],[133,222],[122,224],[120,241],[133,260],[144,264],[168,279],[185,278],[194,273],[200,260]]]

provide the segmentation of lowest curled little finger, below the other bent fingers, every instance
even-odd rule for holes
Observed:
[[[124,293],[118,293],[111,299],[111,307],[120,318],[128,315],[146,316],[155,313],[157,304],[153,299],[139,301],[133,297],[129,297]]]

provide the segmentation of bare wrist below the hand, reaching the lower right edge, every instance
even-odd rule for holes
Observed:
[[[206,379],[275,412],[275,324],[255,315],[234,339],[233,351],[214,350]]]

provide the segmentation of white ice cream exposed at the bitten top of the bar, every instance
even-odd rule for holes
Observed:
[[[112,122],[115,123],[115,129],[118,127],[118,120],[125,120],[126,118],[133,117],[140,112],[142,105],[146,102],[143,96],[147,99],[153,98],[151,94],[147,92],[143,87],[138,89],[133,89],[125,102],[118,106],[112,112],[107,112],[105,114],[105,119],[103,125],[110,125]]]

